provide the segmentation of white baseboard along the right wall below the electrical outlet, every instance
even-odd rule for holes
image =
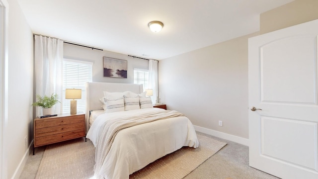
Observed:
[[[235,136],[235,135],[231,135],[231,134],[215,131],[215,130],[212,130],[212,129],[207,129],[207,128],[204,128],[204,127],[199,127],[199,126],[196,126],[196,125],[194,125],[194,129],[196,131],[198,131],[198,132],[202,132],[202,133],[209,134],[209,135],[212,135],[212,136],[215,136],[215,137],[219,137],[219,138],[222,138],[222,139],[225,139],[225,140],[236,142],[236,143],[242,144],[244,146],[248,146],[248,139],[246,139],[246,138],[242,138],[242,137],[239,137],[239,136]]]

